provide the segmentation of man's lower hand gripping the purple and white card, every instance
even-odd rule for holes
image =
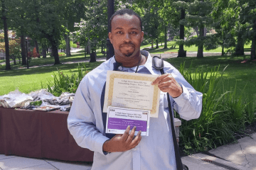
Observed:
[[[130,126],[127,127],[124,134],[114,135],[111,140],[107,140],[103,144],[103,151],[105,152],[124,152],[129,149],[136,147],[139,142],[142,140],[141,133],[139,130],[138,135],[133,139],[136,127],[132,128],[131,133],[129,134]]]

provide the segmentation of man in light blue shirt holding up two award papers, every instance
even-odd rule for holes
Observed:
[[[171,96],[171,105],[181,118],[190,120],[201,114],[202,94],[168,62],[164,62],[164,72],[168,74],[160,75],[159,70],[152,67],[149,53],[140,51],[144,32],[137,13],[122,9],[114,13],[110,21],[109,38],[114,57],[82,79],[68,115],[70,133],[80,147],[95,152],[92,170],[176,169],[167,95]],[[161,90],[159,118],[150,118],[149,136],[141,136],[139,132],[134,137],[135,128],[129,127],[122,135],[106,136],[107,113],[102,113],[102,108],[107,70],[159,74],[152,82]]]

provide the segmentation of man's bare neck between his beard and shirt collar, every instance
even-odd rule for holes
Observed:
[[[140,52],[139,52],[139,55],[136,55],[134,57],[117,57],[115,55],[115,60],[117,62],[120,62],[122,63],[122,66],[123,67],[136,67],[139,63],[139,60],[140,60]],[[142,55],[142,60],[140,60],[140,63],[139,65],[142,65],[142,64],[145,64],[146,63],[146,57],[144,55]]]

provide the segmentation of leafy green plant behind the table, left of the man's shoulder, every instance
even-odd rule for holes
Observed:
[[[87,74],[85,64],[82,63],[82,66],[78,64],[78,74],[75,74],[70,70],[70,75],[65,75],[63,72],[58,70],[57,74],[53,73],[53,82],[48,80],[46,91],[50,92],[54,96],[60,96],[63,92],[74,93],[78,89],[78,85],[82,78]]]

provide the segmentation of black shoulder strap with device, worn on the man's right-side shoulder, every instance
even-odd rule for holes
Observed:
[[[154,67],[154,69],[158,69],[161,72],[161,74],[164,74],[164,61],[161,60],[160,57],[154,56],[152,58],[152,67]],[[169,114],[170,114],[170,119],[171,119],[171,133],[172,133],[173,142],[174,142],[176,168],[177,168],[177,170],[188,170],[188,166],[186,166],[185,164],[182,164],[182,162],[181,162],[181,155],[178,151],[178,142],[176,140],[176,134],[175,134],[175,129],[174,129],[174,118],[173,118],[172,111],[171,111],[171,101],[170,101],[169,95],[167,95],[167,98],[168,98]]]

